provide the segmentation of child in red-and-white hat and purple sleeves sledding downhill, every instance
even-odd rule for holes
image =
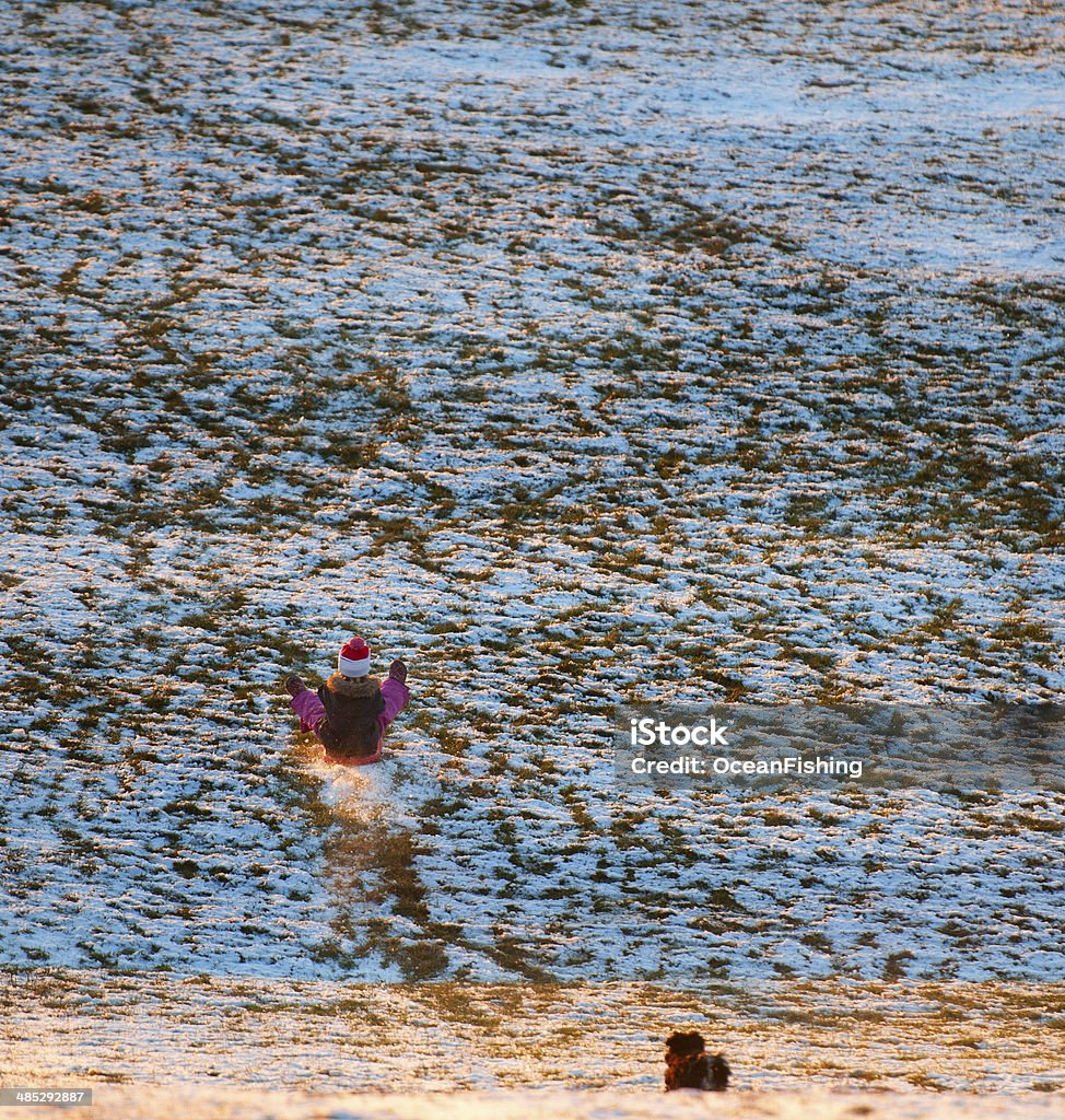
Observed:
[[[384,731],[410,700],[407,665],[393,661],[389,676],[370,675],[370,646],[353,637],[337,657],[337,671],[312,692],[298,678],[284,687],[299,716],[299,729],[314,731],[329,762],[363,766],[381,758]]]

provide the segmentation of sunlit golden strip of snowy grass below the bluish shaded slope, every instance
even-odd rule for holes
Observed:
[[[1061,986],[102,982],[60,970],[9,979],[0,1009],[4,1084],[658,1092],[663,1039],[694,1025],[728,1054],[738,1092],[1049,1093],[1061,1105],[1065,1089]]]

